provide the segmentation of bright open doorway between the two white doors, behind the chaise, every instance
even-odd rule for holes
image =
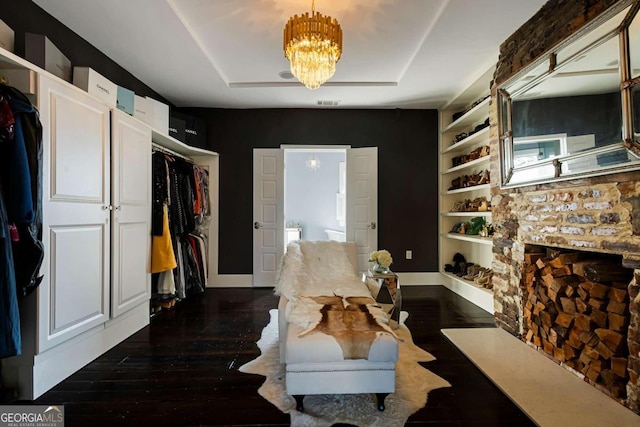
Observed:
[[[284,149],[285,246],[346,241],[346,148]]]

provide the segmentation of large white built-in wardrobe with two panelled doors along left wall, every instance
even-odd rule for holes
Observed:
[[[152,140],[209,171],[215,280],[218,157],[0,48],[5,69],[37,74],[43,128],[44,278],[20,301],[22,354],[0,361],[3,385],[35,399],[149,324]]]

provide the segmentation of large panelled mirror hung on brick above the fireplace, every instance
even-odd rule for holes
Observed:
[[[502,187],[640,169],[639,7],[612,6],[498,88]]]

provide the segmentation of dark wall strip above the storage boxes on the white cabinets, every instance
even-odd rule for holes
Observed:
[[[113,83],[136,95],[150,96],[171,105],[118,63],[42,10],[31,0],[0,0],[0,19],[15,32],[16,55],[24,58],[25,33],[44,34],[71,61],[72,66],[91,67]],[[126,47],[123,46],[126,49]]]

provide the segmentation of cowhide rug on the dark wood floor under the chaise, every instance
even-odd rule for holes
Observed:
[[[284,365],[280,364],[278,349],[278,310],[271,310],[270,315],[271,321],[257,342],[262,354],[239,370],[266,377],[258,393],[282,412],[290,414],[292,426],[331,426],[336,423],[404,426],[409,416],[427,403],[427,394],[431,390],[451,386],[418,364],[435,358],[413,343],[409,329],[402,324],[394,330],[401,339],[398,342],[396,391],[385,399],[386,409],[383,412],[376,410],[374,394],[309,395],[304,399],[304,412],[298,412],[295,400],[285,391],[285,371]],[[406,312],[403,315],[407,317]]]

